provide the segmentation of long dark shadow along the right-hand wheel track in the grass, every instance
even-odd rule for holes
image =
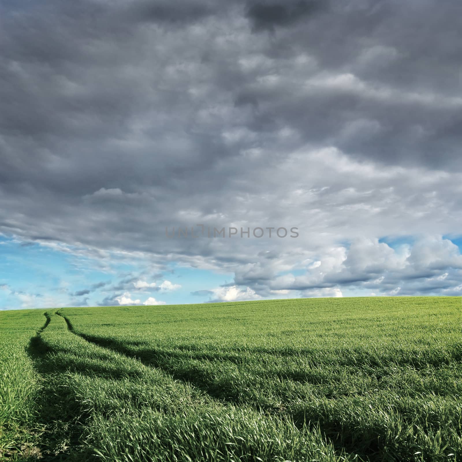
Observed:
[[[62,316],[62,315],[60,315]],[[201,353],[192,350],[180,348],[179,352],[170,352],[164,350],[155,350],[143,348],[141,342],[132,342],[125,344],[110,338],[103,338],[91,335],[85,335],[73,330],[71,322],[63,316],[67,322],[67,327],[75,335],[91,342],[95,345],[121,353],[129,358],[139,360],[142,364],[158,368],[168,373],[172,378],[186,383],[191,383],[198,389],[201,389],[207,395],[217,400],[229,401],[236,405],[246,405],[254,407],[265,413],[271,413],[280,419],[293,421],[295,426],[302,428],[308,426],[313,430],[319,428],[326,440],[334,445],[336,450],[344,450],[350,454],[357,454],[359,461],[414,461],[412,453],[408,453],[406,447],[398,448],[394,444],[387,443],[386,429],[381,425],[372,425],[371,423],[362,422],[357,419],[356,410],[352,409],[348,416],[335,415],[322,408],[310,407],[274,407],[266,403],[259,402],[258,395],[254,393],[251,384],[248,387],[242,386],[242,383],[233,383],[232,378],[216,377],[209,371],[201,370],[196,365],[188,365],[188,359],[205,359],[213,361],[229,361],[237,364],[238,355],[245,355],[245,351],[231,353],[228,357],[223,353]],[[131,346],[131,347],[130,347]],[[134,346],[138,346],[137,348]],[[268,350],[266,353],[270,353]],[[242,363],[243,360],[240,360]],[[405,363],[408,364],[407,361]],[[271,374],[270,374],[271,375]],[[293,373],[293,376],[286,371],[276,371],[273,375],[280,378],[290,378],[292,380],[305,381],[308,383],[319,384],[319,378],[312,374],[303,372]],[[268,377],[270,379],[270,377]],[[345,419],[346,417],[346,419]],[[398,452],[394,452],[394,451]]]

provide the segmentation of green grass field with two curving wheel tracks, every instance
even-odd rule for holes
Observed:
[[[462,298],[0,312],[0,459],[461,461]]]

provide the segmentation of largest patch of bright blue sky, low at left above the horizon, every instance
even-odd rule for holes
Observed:
[[[20,294],[30,294],[31,300],[36,300],[36,303],[56,299],[60,306],[85,302],[89,306],[97,306],[103,298],[120,292],[111,292],[111,286],[116,286],[124,278],[146,274],[146,267],[149,267],[146,261],[135,258],[128,262],[111,258],[108,264],[63,251],[59,246],[23,242],[0,235],[0,286],[3,287],[0,290],[0,309],[24,308]],[[162,277],[159,275],[156,280],[146,280],[140,276],[140,280],[156,283],[152,290],[148,287],[141,291],[134,285],[127,289],[131,298],[140,299],[141,303],[149,297],[167,304],[201,303],[206,302],[210,294],[199,292],[201,295],[197,296],[191,295],[192,292],[211,291],[232,284],[234,274],[170,263]],[[175,289],[158,290],[164,280],[170,281]],[[94,287],[101,282],[106,284]],[[85,291],[89,293],[76,295],[76,292]]]

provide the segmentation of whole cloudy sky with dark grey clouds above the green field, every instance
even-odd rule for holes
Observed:
[[[462,295],[461,14],[0,0],[0,309]]]

